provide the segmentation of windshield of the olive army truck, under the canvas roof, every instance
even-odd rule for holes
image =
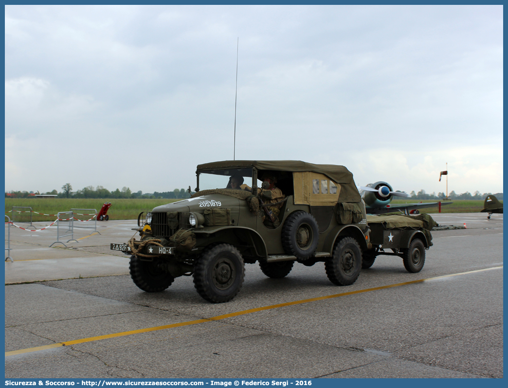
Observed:
[[[199,172],[199,189],[215,188],[241,189],[242,184],[252,186],[252,168],[246,169],[215,169]]]

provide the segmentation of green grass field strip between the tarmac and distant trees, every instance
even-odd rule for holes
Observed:
[[[112,206],[108,210],[110,219],[137,219],[138,214],[142,211],[150,211],[156,206],[165,205],[179,200],[121,200],[121,199],[65,199],[65,198],[6,198],[5,211],[12,218],[9,212],[13,206],[31,207],[34,212],[43,214],[56,214],[58,212],[70,211],[71,209],[96,209],[99,211],[105,202],[111,202]],[[418,202],[435,202],[435,201],[419,201],[419,200],[394,200],[391,204],[418,203]],[[501,201],[502,202],[502,201]],[[483,209],[483,201],[473,200],[456,200],[451,205],[443,206],[442,213],[475,213]],[[9,213],[8,213],[9,212]],[[436,207],[425,208],[420,210],[421,213],[437,213]],[[46,216],[33,213],[33,221],[54,221],[56,215]]]

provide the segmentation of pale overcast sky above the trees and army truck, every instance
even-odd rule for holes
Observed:
[[[170,191],[233,159],[503,191],[502,6],[6,6],[5,189]]]

